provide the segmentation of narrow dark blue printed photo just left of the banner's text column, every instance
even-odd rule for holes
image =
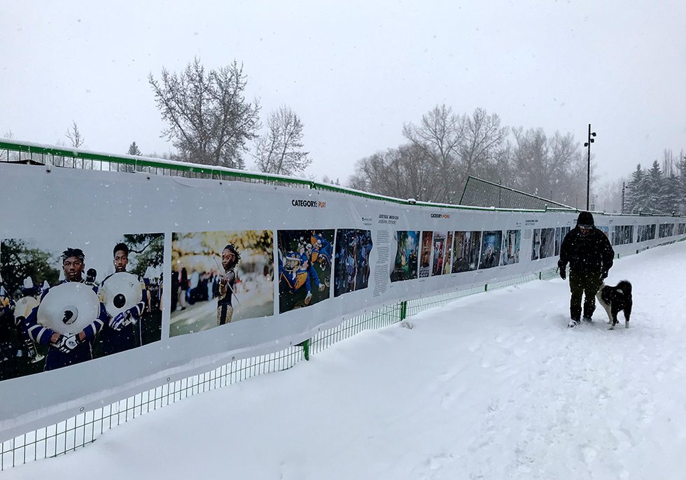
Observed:
[[[334,297],[367,288],[369,256],[372,252],[371,230],[336,230],[335,246]]]

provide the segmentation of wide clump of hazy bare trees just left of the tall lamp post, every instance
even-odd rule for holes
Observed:
[[[358,160],[349,185],[454,204],[468,176],[476,176],[561,204],[585,204],[587,157],[572,134],[511,128],[483,108],[454,113],[441,104],[419,123],[405,124],[402,135],[402,145]]]

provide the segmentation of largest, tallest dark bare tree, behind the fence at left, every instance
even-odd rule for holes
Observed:
[[[181,160],[245,168],[246,142],[259,127],[258,101],[246,101],[243,65],[234,61],[205,71],[195,57],[181,73],[162,69],[160,81],[148,75],[155,103],[169,127],[162,132],[179,149]]]

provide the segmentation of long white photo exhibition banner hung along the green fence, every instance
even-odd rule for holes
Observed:
[[[577,218],[15,164],[0,188],[0,440],[382,305],[555,267]],[[595,220],[619,255],[686,227]]]

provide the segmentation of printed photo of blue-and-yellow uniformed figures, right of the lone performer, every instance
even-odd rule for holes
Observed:
[[[279,313],[330,296],[334,230],[279,230]]]

